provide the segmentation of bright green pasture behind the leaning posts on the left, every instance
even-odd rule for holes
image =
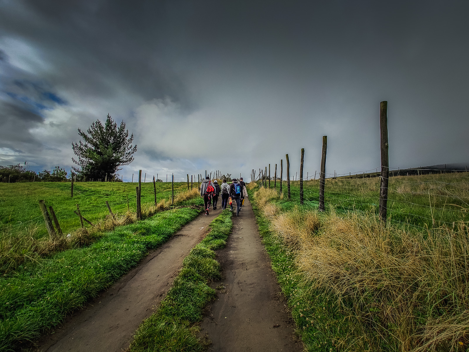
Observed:
[[[106,200],[113,213],[123,214],[127,211],[129,198],[129,208],[135,212],[137,185],[121,182],[76,182],[71,198],[69,182],[0,183],[0,234],[37,229],[36,236],[45,237],[47,230],[39,209],[39,199],[44,199],[47,207],[53,207],[64,233],[80,227],[80,218],[73,212],[76,204],[80,206],[82,215],[93,223],[108,214]],[[171,198],[171,183],[159,182],[156,188],[158,201]],[[187,191],[186,183],[174,184],[174,194],[180,191]],[[154,203],[152,183],[142,184],[141,202]]]

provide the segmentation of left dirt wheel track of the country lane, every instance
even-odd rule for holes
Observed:
[[[219,202],[220,203],[220,202]],[[37,344],[36,351],[122,351],[171,287],[182,260],[221,212],[201,214],[140,265]]]

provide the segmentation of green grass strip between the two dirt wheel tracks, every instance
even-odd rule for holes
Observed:
[[[202,310],[215,298],[207,283],[221,278],[215,250],[226,245],[233,223],[232,213],[224,210],[209,225],[207,236],[184,258],[173,287],[161,301],[158,310],[136,330],[130,352],[205,351],[196,337]]]

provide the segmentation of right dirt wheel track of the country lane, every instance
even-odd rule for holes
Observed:
[[[212,340],[209,351],[303,351],[271,263],[259,237],[249,200],[236,217],[227,246],[217,251],[223,280],[205,312],[201,334]]]

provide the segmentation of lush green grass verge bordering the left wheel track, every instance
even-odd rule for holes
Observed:
[[[29,262],[0,279],[0,351],[39,337],[200,214],[166,210],[107,232],[93,244]]]

